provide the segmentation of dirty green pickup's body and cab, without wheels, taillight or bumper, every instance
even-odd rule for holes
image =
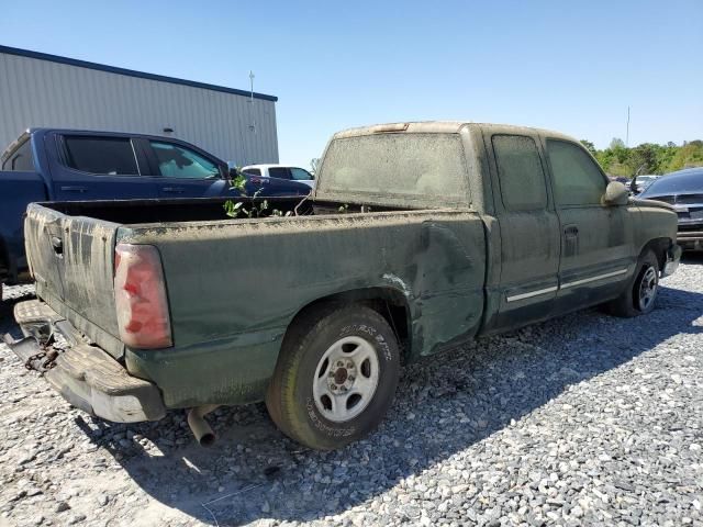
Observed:
[[[404,143],[403,134],[415,135]],[[502,125],[346,131],[325,150],[316,194],[276,204],[303,205],[293,217],[226,220],[212,200],[31,205],[37,294],[132,375],[154,382],[167,407],[261,400],[295,316],[330,299],[393,299],[414,360],[612,300],[648,248],[663,268],[673,211],[601,201],[607,179],[598,165],[595,202],[565,206],[549,141],[585,152],[560,134]],[[423,157],[423,145],[442,155]],[[172,347],[119,340],[119,243],[158,250]]]

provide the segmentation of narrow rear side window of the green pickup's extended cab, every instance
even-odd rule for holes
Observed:
[[[545,210],[547,186],[535,141],[523,135],[494,135],[491,141],[505,209]]]

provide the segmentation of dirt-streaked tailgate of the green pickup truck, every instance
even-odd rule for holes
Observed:
[[[113,293],[120,225],[31,204],[24,236],[36,292],[111,355],[122,355]]]

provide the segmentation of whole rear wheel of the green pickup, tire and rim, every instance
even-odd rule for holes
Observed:
[[[379,425],[393,402],[400,375],[400,351],[393,330],[380,314],[360,304],[311,310],[294,324],[283,339],[266,395],[271,419],[287,436],[319,450],[341,448],[362,438]],[[358,354],[359,358],[375,354],[376,362],[370,356],[361,365],[349,359],[353,365],[349,369],[345,363],[332,371],[336,359],[333,363],[325,357],[346,352]],[[364,396],[354,393],[358,391],[355,385],[368,386],[372,379],[376,379],[372,392],[367,389]],[[327,392],[315,400],[314,392],[320,393],[321,385]],[[334,392],[337,395],[334,404],[338,405],[335,410],[348,415],[359,412],[358,415],[344,422],[331,421],[333,389],[345,392]],[[356,406],[361,403],[362,406]]]

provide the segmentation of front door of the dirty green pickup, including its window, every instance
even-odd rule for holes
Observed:
[[[632,228],[637,212],[604,205],[609,179],[580,145],[545,138],[561,224],[558,310],[573,311],[616,296],[637,259]]]

